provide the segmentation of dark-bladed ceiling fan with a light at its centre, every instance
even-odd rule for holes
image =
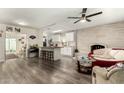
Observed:
[[[96,15],[99,15],[99,14],[102,14],[102,11],[101,12],[97,12],[97,13],[94,13],[94,14],[90,14],[90,15],[86,15],[86,12],[87,12],[87,8],[83,8],[82,9],[82,12],[81,12],[81,17],[68,17],[69,19],[78,19],[77,21],[74,22],[74,24],[76,24],[77,22],[81,21],[81,22],[91,22],[90,17],[92,16],[96,16]]]

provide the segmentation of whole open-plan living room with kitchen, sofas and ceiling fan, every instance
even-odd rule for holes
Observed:
[[[123,10],[1,8],[0,83],[124,83]]]

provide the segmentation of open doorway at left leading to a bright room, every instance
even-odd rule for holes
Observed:
[[[6,60],[26,56],[26,34],[6,32]]]

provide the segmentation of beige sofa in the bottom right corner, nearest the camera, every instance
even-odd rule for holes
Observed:
[[[95,66],[92,70],[93,84],[124,84],[124,66],[109,68]]]

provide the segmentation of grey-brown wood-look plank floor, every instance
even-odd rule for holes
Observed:
[[[70,58],[48,62],[38,58],[10,59],[0,63],[1,84],[88,84],[91,75],[78,73]]]

